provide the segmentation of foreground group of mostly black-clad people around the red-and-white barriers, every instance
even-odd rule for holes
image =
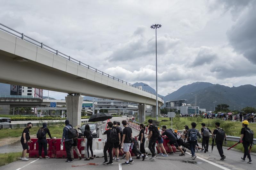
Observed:
[[[103,153],[104,153],[104,162],[103,164],[106,165],[113,165],[113,161],[120,161],[119,158],[119,152],[121,152],[121,159],[125,159],[126,161],[122,163],[121,165],[127,166],[134,162],[134,160],[131,157],[131,153],[129,152],[130,148],[132,149],[132,152],[136,155],[136,159],[142,159],[144,161],[146,158],[148,158],[146,151],[145,151],[145,141],[146,138],[148,139],[148,149],[150,150],[152,157],[150,160],[157,159],[157,156],[163,156],[163,157],[169,157],[169,155],[174,155],[173,147],[176,147],[177,150],[179,150],[181,153],[179,156],[186,156],[187,150],[190,150],[192,159],[196,159],[195,151],[201,150],[201,152],[208,152],[209,151],[209,139],[210,136],[212,136],[213,140],[216,143],[220,160],[224,161],[226,159],[226,156],[224,155],[222,145],[223,142],[227,144],[227,137],[225,134],[225,131],[220,128],[220,123],[215,123],[215,129],[212,131],[205,127],[205,123],[201,123],[201,132],[196,129],[197,124],[195,122],[191,123],[191,128],[189,128],[187,125],[185,125],[185,129],[182,130],[182,133],[179,134],[177,130],[173,129],[167,129],[166,126],[162,126],[163,133],[161,134],[158,127],[156,125],[153,125],[153,120],[148,120],[148,135],[145,134],[145,125],[140,124],[140,131],[139,134],[137,134],[135,137],[133,136],[132,129],[128,126],[128,122],[126,120],[123,120],[122,122],[123,129],[120,127],[120,122],[114,121],[114,122],[108,122],[108,128],[106,131],[103,132],[103,129],[101,129],[102,135],[107,136],[107,140],[104,145]],[[249,122],[247,120],[244,120],[242,122],[242,129],[241,129],[241,137],[238,141],[238,143],[242,143],[244,147],[244,156],[241,157],[243,161],[245,161],[246,157],[248,157],[249,161],[248,163],[252,163],[252,159],[250,156],[249,147],[252,147],[253,144],[253,132],[251,129],[248,128]],[[22,152],[22,160],[28,161],[29,159],[26,158],[26,152],[29,149],[28,142],[30,142],[30,136],[29,136],[29,129],[32,127],[31,122],[27,124],[27,127],[23,130],[22,136],[21,136],[21,144],[23,148]],[[50,134],[50,130],[47,128],[47,123],[43,123],[43,127],[38,129],[37,132],[37,138],[38,138],[38,144],[39,144],[39,159],[42,158],[42,148],[44,149],[44,159],[49,159],[47,156],[47,140],[46,135],[50,138],[52,138]],[[138,140],[137,140],[138,137]],[[166,152],[163,142],[164,138],[167,138],[169,140],[167,146],[170,150],[169,153]],[[66,162],[73,162],[74,155],[73,150],[78,155],[79,159],[82,159],[81,154],[79,153],[79,150],[77,148],[78,144],[78,138],[86,138],[87,139],[87,158],[84,160],[91,160],[94,159],[93,157],[93,136],[90,131],[89,125],[85,126],[85,131],[82,134],[80,131],[80,126],[78,126],[78,129],[75,129],[70,124],[69,120],[65,121],[65,127],[63,128],[63,134],[62,134],[62,141],[61,145],[63,145],[63,142],[65,144],[66,153],[67,153],[67,160]],[[202,138],[202,147],[198,145],[198,141],[200,141]],[[158,155],[155,153],[155,145],[157,143],[158,151],[160,152]],[[138,145],[140,144],[139,148]],[[91,157],[89,157],[89,151],[91,152]],[[107,157],[107,152],[109,151],[109,160]],[[115,152],[115,157],[113,157],[113,154]]]

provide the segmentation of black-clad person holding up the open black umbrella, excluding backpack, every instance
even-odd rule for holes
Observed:
[[[113,150],[113,143],[111,143],[110,141],[110,131],[112,130],[112,126],[113,126],[113,123],[112,122],[108,122],[108,127],[109,129],[106,130],[104,133],[103,133],[103,129],[101,129],[101,133],[102,135],[107,135],[107,141],[104,145],[104,149],[103,149],[103,153],[104,153],[104,159],[105,161],[103,162],[103,164],[107,164],[107,165],[113,165],[113,155],[112,155],[112,150]],[[108,161],[108,156],[107,156],[107,151],[109,150],[109,161]]]

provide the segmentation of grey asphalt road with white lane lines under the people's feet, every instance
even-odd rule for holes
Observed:
[[[113,118],[111,121],[122,121],[126,119],[123,118]],[[102,128],[105,128],[106,124],[102,125]],[[133,136],[136,136],[139,132],[133,129]],[[100,137],[102,136],[100,133]],[[15,161],[8,165],[1,166],[0,170],[20,170],[20,169],[61,169],[61,170],[80,170],[80,169],[89,169],[89,170],[105,170],[106,168],[111,169],[118,169],[118,170],[130,170],[130,169],[141,169],[141,170],[148,170],[148,169],[197,169],[197,170],[216,170],[216,169],[231,169],[231,170],[255,170],[256,169],[256,156],[252,156],[253,164],[247,164],[246,162],[242,161],[240,158],[243,156],[242,152],[223,149],[224,154],[226,155],[225,161],[220,161],[219,153],[216,147],[214,147],[213,152],[196,152],[198,156],[195,160],[192,160],[191,156],[186,154],[186,156],[178,156],[179,152],[176,152],[174,155],[169,155],[169,157],[161,157],[158,156],[156,160],[149,160],[151,157],[149,155],[148,159],[142,161],[142,159],[136,159],[133,157],[134,163],[130,164],[130,166],[120,166],[121,163],[125,162],[125,159],[121,159],[119,162],[114,161],[113,165],[102,165],[104,158],[95,158],[94,160],[84,161],[83,159],[75,159],[72,163],[65,163],[66,159],[35,159],[30,158],[29,161]],[[94,163],[96,165],[86,165],[87,163]],[[72,167],[73,166],[73,167]]]

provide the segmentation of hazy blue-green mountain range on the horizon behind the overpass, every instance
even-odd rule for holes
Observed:
[[[155,93],[155,89],[145,83],[135,83],[143,89]],[[193,93],[193,94],[191,94]],[[10,95],[10,85],[0,83],[0,94]],[[180,87],[177,91],[166,96],[158,95],[164,101],[186,99],[187,104],[194,106],[194,94],[196,94],[197,106],[206,108],[206,111],[213,111],[214,106],[223,103],[229,105],[230,110],[240,110],[242,107],[256,107],[256,87],[253,85],[241,85],[228,87],[225,85],[212,84],[208,82],[195,82]],[[47,98],[44,96],[44,98]],[[50,98],[49,99],[54,99]],[[93,100],[93,97],[85,96],[84,100]],[[215,104],[213,103],[215,102]],[[165,105],[164,105],[165,106]],[[240,108],[239,108],[240,107]]]

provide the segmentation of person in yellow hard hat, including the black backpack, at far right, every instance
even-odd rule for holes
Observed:
[[[243,128],[241,129],[241,137],[240,137],[239,143],[243,143],[243,146],[244,146],[244,157],[241,157],[241,159],[245,161],[245,158],[247,156],[249,159],[247,163],[251,164],[252,159],[251,159],[251,155],[248,147],[252,146],[252,143],[253,143],[253,131],[247,127],[248,125],[249,125],[248,121],[242,122]]]

